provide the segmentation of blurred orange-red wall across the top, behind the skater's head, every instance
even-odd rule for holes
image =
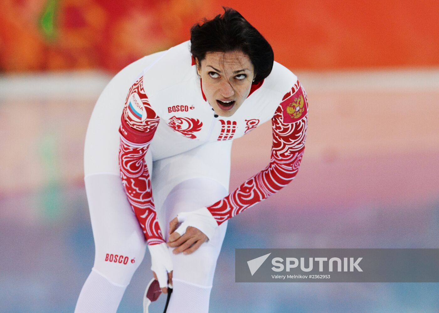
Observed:
[[[105,69],[189,39],[240,11],[291,69],[439,65],[439,1],[4,0],[0,71]]]

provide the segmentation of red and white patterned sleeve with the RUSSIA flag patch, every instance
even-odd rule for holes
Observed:
[[[158,121],[159,117],[144,92],[142,76],[131,86],[122,112],[119,169],[123,188],[148,245],[165,242],[155,212],[151,179],[145,161]]]

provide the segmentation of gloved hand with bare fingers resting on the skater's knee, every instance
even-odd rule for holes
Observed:
[[[177,228],[179,224],[180,227]],[[205,207],[192,212],[179,213],[169,223],[168,246],[176,248],[173,250],[174,254],[193,253],[203,242],[213,237],[217,226],[216,220]]]

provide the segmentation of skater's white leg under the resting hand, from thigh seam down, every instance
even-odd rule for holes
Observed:
[[[163,209],[170,221],[180,212],[187,212],[215,203],[227,196],[227,190],[209,178],[192,178],[174,187]],[[173,293],[168,313],[203,313],[209,311],[210,291],[227,221],[216,228],[215,235],[194,253],[179,253],[173,259]],[[169,224],[166,228],[168,234]],[[171,251],[175,248],[169,248]]]

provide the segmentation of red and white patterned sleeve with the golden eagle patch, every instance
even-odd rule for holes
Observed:
[[[299,81],[285,94],[271,121],[270,164],[227,197],[207,207],[218,225],[281,190],[299,171],[308,124],[308,102]]]

